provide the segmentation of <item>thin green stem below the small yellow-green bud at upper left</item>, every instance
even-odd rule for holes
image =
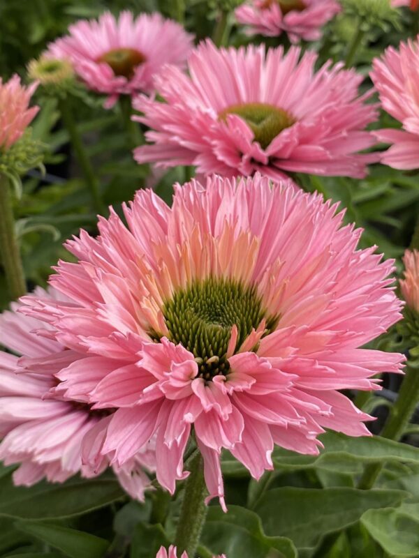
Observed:
[[[82,169],[84,180],[89,187],[94,209],[98,211],[98,213],[103,213],[104,207],[99,193],[98,179],[96,178],[94,168],[91,166],[90,159],[84,149],[82,137],[80,136],[78,127],[73,118],[73,112],[68,98],[59,100],[59,111],[61,112],[61,119],[64,122],[68,136],[70,137],[71,146],[73,147],[78,164]]]

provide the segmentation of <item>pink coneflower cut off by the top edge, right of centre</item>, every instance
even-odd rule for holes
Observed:
[[[336,0],[251,0],[235,10],[250,33],[271,37],[287,33],[293,43],[318,40],[321,28],[341,10]]]

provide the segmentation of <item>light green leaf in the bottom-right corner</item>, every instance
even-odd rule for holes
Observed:
[[[399,508],[368,510],[361,518],[369,534],[390,555],[419,555],[419,502],[402,504]]]

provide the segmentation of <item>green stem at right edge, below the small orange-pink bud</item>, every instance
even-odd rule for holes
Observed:
[[[409,423],[416,405],[419,401],[419,370],[417,366],[407,365],[406,375],[395,404],[392,407],[390,416],[381,432],[381,436],[391,440],[399,440]],[[358,488],[369,490],[374,485],[376,478],[383,469],[383,463],[374,463],[365,467],[364,474],[360,478]]]

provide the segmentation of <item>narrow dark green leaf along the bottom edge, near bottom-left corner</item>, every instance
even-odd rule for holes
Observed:
[[[103,538],[61,525],[27,521],[15,525],[20,531],[61,550],[70,558],[101,558],[109,546],[109,542]]]

